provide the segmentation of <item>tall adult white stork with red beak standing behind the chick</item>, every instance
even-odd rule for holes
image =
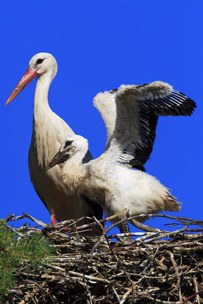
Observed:
[[[47,164],[58,151],[64,138],[74,134],[67,123],[49,107],[49,87],[56,74],[55,58],[49,53],[36,54],[29,61],[28,70],[16,85],[5,105],[8,105],[33,78],[37,77],[33,133],[28,156],[30,179],[35,191],[48,209],[52,223],[55,223],[55,218],[59,222],[92,215],[101,219],[103,211],[97,203],[89,202],[90,207],[81,195],[67,194],[60,181],[63,165],[57,165],[52,170],[46,171]],[[88,162],[92,158],[89,151],[86,152],[82,162]],[[91,234],[97,235],[97,232],[93,231]]]

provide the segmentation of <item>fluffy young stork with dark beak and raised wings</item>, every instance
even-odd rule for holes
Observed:
[[[190,115],[195,103],[160,81],[122,86],[106,92],[106,95],[109,97],[105,97],[106,102],[113,101],[116,106],[113,123],[111,119],[107,123],[106,112],[104,117],[108,126],[108,150],[97,159],[81,164],[88,150],[88,141],[82,136],[71,135],[50,161],[47,170],[65,162],[61,180],[67,191],[70,194],[83,193],[102,207],[106,203],[109,216],[126,206],[130,216],[179,211],[180,204],[168,188],[153,176],[129,167],[142,166],[149,157],[159,115]],[[100,93],[96,99],[102,97],[104,95]],[[111,126],[114,126],[114,132],[113,129],[110,131]],[[126,217],[126,212],[119,216],[120,219]]]

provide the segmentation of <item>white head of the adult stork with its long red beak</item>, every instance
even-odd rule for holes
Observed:
[[[9,96],[5,106],[9,104],[36,76],[40,78],[44,73],[50,74],[51,81],[57,74],[57,61],[49,53],[38,53],[29,61],[28,70],[20,79]]]

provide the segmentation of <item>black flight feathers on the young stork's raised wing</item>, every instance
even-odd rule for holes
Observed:
[[[136,89],[143,90],[147,86],[148,84],[136,86]],[[134,158],[123,162],[123,164],[129,164],[133,168],[145,171],[143,165],[153,150],[159,115],[191,116],[194,108],[196,108],[195,102],[181,92],[172,89],[171,93],[166,95],[161,97],[160,95],[154,95],[153,98],[138,98],[136,100],[139,116],[139,136],[135,142],[132,142],[136,146]],[[123,154],[125,153],[127,152],[124,150]]]

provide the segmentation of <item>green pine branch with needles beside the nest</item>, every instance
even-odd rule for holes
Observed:
[[[8,299],[8,289],[15,288],[18,271],[46,272],[46,264],[56,255],[42,233],[19,236],[0,220],[0,303]]]

